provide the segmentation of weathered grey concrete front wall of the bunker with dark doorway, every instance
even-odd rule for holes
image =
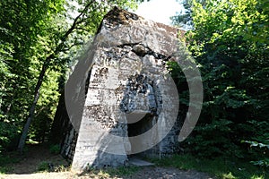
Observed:
[[[166,62],[178,49],[178,30],[115,8],[102,21],[95,43],[73,169],[123,166],[133,153],[173,152],[176,125],[159,141],[174,125],[170,115],[178,114],[173,111],[178,96],[166,86],[172,83]],[[140,115],[143,120],[134,123]],[[132,138],[149,129],[150,134]]]

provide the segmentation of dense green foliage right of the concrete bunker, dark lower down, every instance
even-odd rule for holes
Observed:
[[[194,26],[187,44],[202,73],[204,105],[182,146],[200,157],[268,166],[269,4],[210,0],[190,8]]]

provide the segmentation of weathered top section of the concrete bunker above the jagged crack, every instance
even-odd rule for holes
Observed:
[[[143,29],[139,28],[140,25],[147,26]],[[121,31],[121,27],[125,27],[126,31]],[[152,48],[152,44],[143,44],[145,47],[149,47],[155,53],[159,53],[161,55],[170,56],[173,53],[177,52],[178,43],[182,45],[185,41],[185,30],[180,30],[176,27],[171,27],[169,25],[163,24],[161,22],[155,22],[152,20],[144,19],[142,16],[139,16],[135,13],[127,12],[126,10],[120,9],[115,6],[111,11],[109,11],[101,21],[100,27],[96,33],[94,41],[98,41],[98,45],[100,47],[117,47],[124,45],[134,45],[143,42],[142,38],[133,38],[128,36],[128,30],[132,30],[132,27],[136,28],[140,31],[140,33],[144,33],[145,36],[152,36],[154,34],[161,34],[162,40],[167,41],[170,46],[161,46],[161,49]],[[109,37],[113,38],[115,34],[113,31],[117,33],[122,33],[121,37],[118,40],[115,40],[115,43],[109,43],[108,41],[103,40],[103,34],[111,32]],[[149,33],[149,32],[153,33]],[[118,34],[117,34],[118,35]],[[173,39],[172,39],[173,38]],[[152,39],[152,43],[157,42],[154,37]],[[156,45],[157,46],[157,45]]]

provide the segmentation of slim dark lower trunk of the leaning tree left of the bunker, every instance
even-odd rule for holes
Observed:
[[[49,60],[47,59],[47,61],[42,66],[41,72],[39,73],[39,80],[38,80],[38,83],[37,83],[36,88],[35,88],[34,100],[33,100],[32,104],[31,104],[30,111],[29,111],[29,116],[27,118],[26,124],[23,127],[21,139],[20,139],[19,145],[18,145],[18,150],[21,151],[21,152],[22,152],[22,150],[24,148],[24,145],[25,145],[27,134],[28,134],[28,131],[29,131],[29,128],[30,128],[30,122],[32,121],[32,119],[34,117],[35,109],[36,109],[37,103],[39,101],[39,90],[40,90],[40,87],[41,87],[42,82],[44,80],[45,73],[46,73],[46,71],[48,69],[48,62],[49,62]]]

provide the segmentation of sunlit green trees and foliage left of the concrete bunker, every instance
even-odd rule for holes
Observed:
[[[0,2],[0,152],[16,149],[22,131],[28,133],[27,141],[45,140],[74,56],[114,5],[127,9],[137,3]],[[21,141],[23,148],[23,137]]]

